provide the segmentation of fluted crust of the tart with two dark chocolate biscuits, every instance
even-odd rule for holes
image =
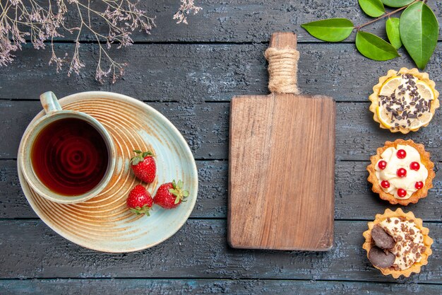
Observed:
[[[395,212],[391,211],[390,209],[386,209],[386,211],[383,214],[376,214],[376,218],[374,221],[370,221],[368,223],[369,229],[367,231],[364,231],[362,234],[365,238],[364,245],[362,245],[362,248],[366,250],[367,258],[369,258],[369,252],[371,250],[371,247],[373,247],[374,242],[371,238],[371,230],[376,224],[380,224],[383,220],[387,219],[388,217],[405,217],[407,220],[413,220],[414,224],[416,224],[417,228],[422,231],[422,236],[424,236],[424,246],[426,247],[426,250],[424,253],[422,253],[422,258],[419,262],[414,262],[414,264],[411,267],[408,267],[405,270],[394,270],[391,267],[388,268],[379,268],[376,267],[378,270],[381,270],[383,275],[391,274],[395,279],[398,279],[401,275],[404,277],[410,277],[410,274],[412,272],[419,273],[421,271],[421,267],[423,265],[428,264],[428,258],[429,255],[431,255],[431,245],[433,244],[433,239],[430,238],[429,235],[429,229],[424,227],[422,225],[422,219],[414,217],[413,212],[405,213],[402,211],[402,209],[397,209]]]

